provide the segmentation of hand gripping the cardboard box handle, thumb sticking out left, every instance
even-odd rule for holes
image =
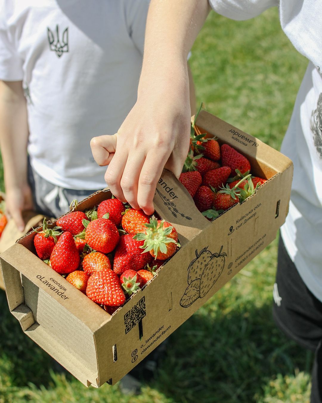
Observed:
[[[146,214],[154,212],[153,196],[163,168],[179,177],[188,154],[188,80],[178,81],[155,85],[154,79],[152,89],[146,86],[117,134],[91,141],[97,164],[109,164],[105,181],[111,192]]]

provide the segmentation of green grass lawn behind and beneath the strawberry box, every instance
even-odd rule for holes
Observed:
[[[307,60],[277,10],[246,22],[212,13],[192,52],[198,103],[279,149]],[[118,384],[85,388],[56,371],[0,292],[0,403],[308,402],[312,355],[271,317],[276,258],[275,240],[169,337],[157,378],[139,396],[122,395]]]

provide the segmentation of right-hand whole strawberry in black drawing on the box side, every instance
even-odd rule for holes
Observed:
[[[227,256],[227,254],[221,253],[222,250],[223,246],[221,247],[219,253],[214,253],[211,256],[211,259],[206,264],[206,267],[202,272],[200,278],[200,298],[204,297],[206,293],[208,293],[223,272],[225,266],[225,256]]]

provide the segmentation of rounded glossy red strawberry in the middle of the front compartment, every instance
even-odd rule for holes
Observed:
[[[120,235],[116,225],[107,218],[97,218],[97,220],[84,220],[85,241],[89,247],[95,251],[109,253],[118,244]]]

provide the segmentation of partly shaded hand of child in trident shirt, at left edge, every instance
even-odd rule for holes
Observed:
[[[13,218],[20,231],[25,229],[22,212],[33,210],[33,197],[29,185],[6,188],[6,215]]]

